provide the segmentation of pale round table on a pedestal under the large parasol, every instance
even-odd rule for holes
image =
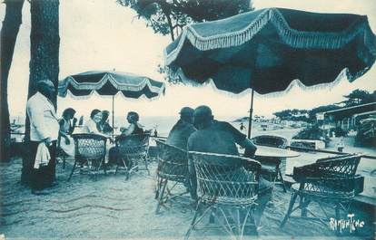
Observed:
[[[280,169],[282,176],[286,172],[286,158],[295,158],[300,156],[301,154],[296,151],[292,151],[290,149],[280,149],[280,148],[273,148],[273,147],[266,147],[266,146],[259,146],[256,145],[257,150],[254,154],[256,157],[259,158],[279,158],[281,159]]]

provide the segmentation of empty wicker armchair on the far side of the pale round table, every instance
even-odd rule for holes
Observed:
[[[274,135],[260,135],[252,138],[252,142],[256,145],[285,149],[287,147],[287,139]],[[283,191],[286,192],[286,186],[281,172],[280,158],[255,158],[262,164],[262,177],[275,184],[282,185]]]

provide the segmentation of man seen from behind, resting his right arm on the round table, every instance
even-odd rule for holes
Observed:
[[[230,123],[213,119],[212,110],[207,106],[200,106],[193,113],[195,131],[188,139],[188,151],[211,152],[219,154],[239,155],[235,145],[245,149],[245,157],[252,158],[256,147],[250,139],[247,139],[242,132],[236,130]],[[190,160],[190,173],[193,178],[193,196],[196,195],[196,178],[192,159]],[[234,168],[247,168],[246,162],[228,162]],[[255,212],[256,225],[259,224],[263,209],[272,194],[272,184],[262,178],[259,181],[258,207]]]

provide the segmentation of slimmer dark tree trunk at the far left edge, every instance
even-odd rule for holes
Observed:
[[[22,24],[22,6],[24,0],[5,1],[5,18],[1,30],[0,56],[1,56],[1,123],[0,123],[0,161],[10,160],[10,122],[8,108],[8,76],[12,64],[13,53],[15,52],[15,40]]]

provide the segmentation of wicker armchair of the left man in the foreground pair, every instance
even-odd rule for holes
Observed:
[[[188,171],[188,155],[183,149],[166,144],[160,139],[155,139],[158,148],[158,168],[156,172],[157,183],[155,199],[158,200],[155,213],[158,214],[161,206],[173,197],[182,197],[189,193],[191,183]],[[174,182],[168,187],[168,183]],[[173,189],[177,184],[183,184],[187,191],[174,194]]]

